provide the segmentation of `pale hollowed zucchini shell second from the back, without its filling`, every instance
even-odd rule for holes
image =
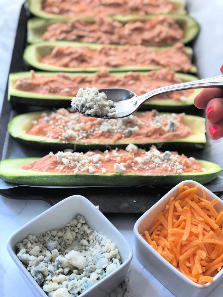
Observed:
[[[175,19],[176,23],[180,26],[180,29],[184,32],[184,37],[182,40],[179,40],[178,42],[182,43],[188,43],[191,40],[193,40],[198,32],[199,32],[199,24],[194,18],[191,18],[189,15],[177,15],[177,14],[167,14],[167,16]],[[139,16],[139,15],[127,15],[127,16],[121,16],[121,15],[114,15],[111,16],[113,20],[117,20],[120,23],[127,23],[129,21],[146,21],[153,18],[154,15],[145,15],[145,16]],[[43,41],[42,36],[47,30],[47,27],[49,25],[52,25],[57,22],[67,22],[66,19],[58,20],[58,19],[41,19],[41,18],[31,18],[28,20],[27,23],[27,41],[29,43],[36,43]],[[85,19],[85,21],[93,22],[93,19]],[[163,44],[161,46],[170,46],[174,44],[175,42],[169,43],[169,44]]]

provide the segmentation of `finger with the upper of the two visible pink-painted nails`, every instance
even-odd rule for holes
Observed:
[[[206,106],[206,116],[212,124],[220,121],[223,118],[223,99],[211,99]]]

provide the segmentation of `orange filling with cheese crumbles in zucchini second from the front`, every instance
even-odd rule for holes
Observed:
[[[43,113],[27,133],[64,143],[112,143],[123,139],[129,142],[134,139],[134,143],[168,141],[192,134],[191,128],[183,123],[184,115],[159,114],[152,110],[123,119],[96,119],[61,108],[50,114]]]

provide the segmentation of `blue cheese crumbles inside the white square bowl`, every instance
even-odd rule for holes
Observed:
[[[82,215],[61,230],[29,235],[16,247],[19,260],[50,297],[77,297],[121,264],[116,245]]]

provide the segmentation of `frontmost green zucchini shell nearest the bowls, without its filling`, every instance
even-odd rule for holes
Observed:
[[[0,163],[0,178],[14,184],[30,186],[174,186],[191,179],[206,184],[215,179],[222,171],[219,165],[198,160],[207,171],[202,173],[183,173],[180,175],[132,175],[132,174],[61,174],[22,170],[21,165],[29,164],[40,158],[5,159]]]

